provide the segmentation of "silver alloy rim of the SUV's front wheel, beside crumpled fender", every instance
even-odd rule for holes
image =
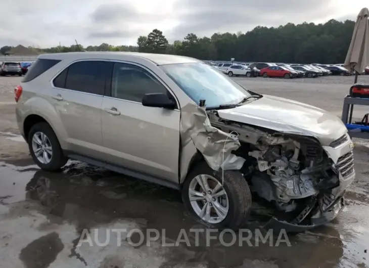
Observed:
[[[189,199],[195,213],[209,224],[218,224],[228,214],[227,193],[221,183],[210,175],[201,174],[192,179]]]

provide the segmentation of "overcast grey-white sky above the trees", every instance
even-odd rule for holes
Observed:
[[[3,0],[4,1],[4,0]],[[139,35],[162,30],[169,41],[187,33],[246,32],[329,19],[356,20],[368,0],[18,0],[2,5],[0,47],[136,44]],[[252,4],[251,4],[252,3]],[[5,7],[5,8],[4,8]]]

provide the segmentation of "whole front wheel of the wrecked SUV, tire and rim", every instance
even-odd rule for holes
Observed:
[[[251,210],[250,188],[237,170],[216,172],[206,162],[199,163],[183,184],[182,199],[193,217],[212,228],[238,230]]]

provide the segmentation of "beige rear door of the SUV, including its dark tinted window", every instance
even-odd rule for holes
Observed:
[[[101,105],[112,65],[108,61],[78,61],[53,80],[52,97],[66,132],[68,150],[101,158]]]

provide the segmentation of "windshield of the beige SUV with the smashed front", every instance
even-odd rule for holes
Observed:
[[[236,104],[250,96],[247,90],[204,63],[180,63],[160,66],[194,102],[206,100],[206,107]]]

